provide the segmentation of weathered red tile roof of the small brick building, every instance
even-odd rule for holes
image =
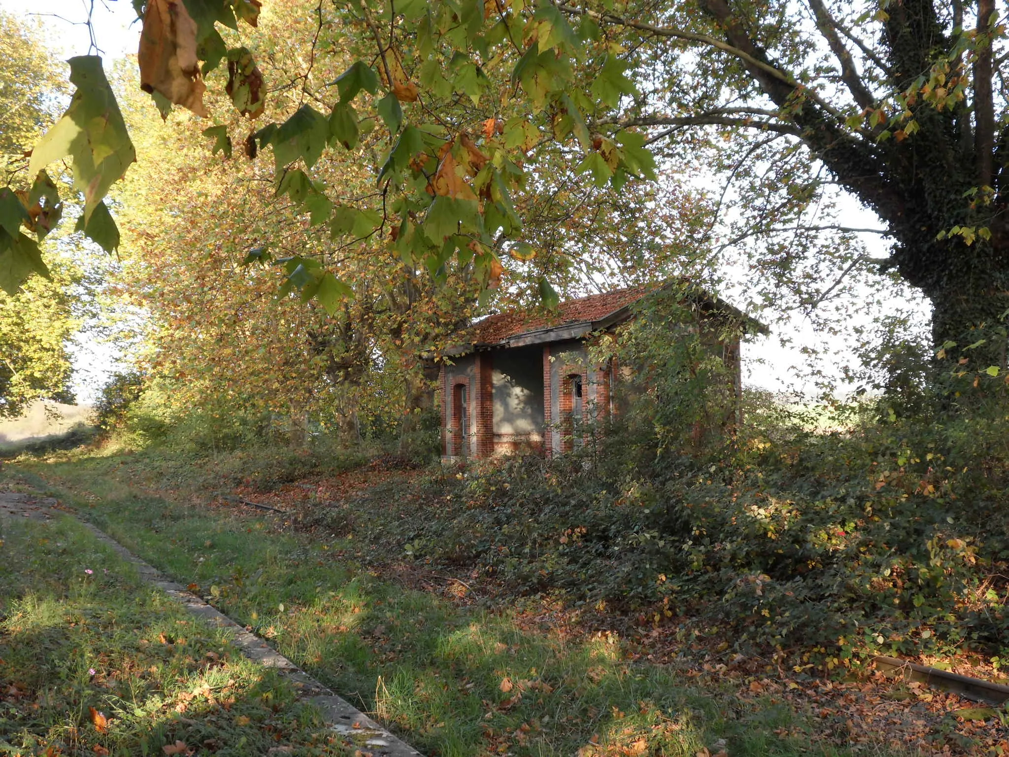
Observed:
[[[473,324],[467,341],[474,344],[494,344],[519,334],[573,323],[598,321],[623,307],[643,298],[654,286],[628,287],[601,295],[579,297],[562,302],[557,310],[544,314],[537,311],[512,310],[488,316]]]

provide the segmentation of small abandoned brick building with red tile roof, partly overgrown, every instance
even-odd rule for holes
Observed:
[[[635,303],[656,291],[632,287],[561,303],[549,316],[511,311],[489,316],[445,352],[439,395],[442,456],[566,452],[583,440],[574,429],[616,411],[619,370],[588,364],[588,340],[634,318]],[[766,327],[700,290],[686,296],[700,320],[736,325],[716,345],[741,391],[740,337]]]

